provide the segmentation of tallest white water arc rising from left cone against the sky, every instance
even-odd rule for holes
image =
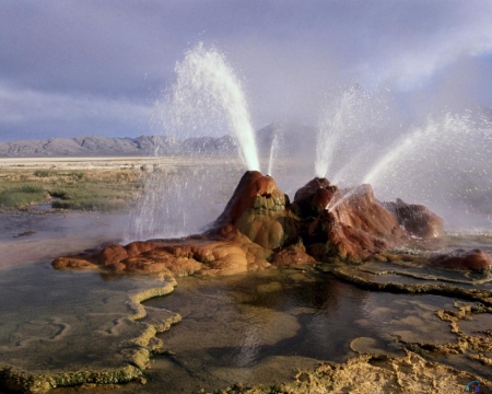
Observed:
[[[175,72],[176,83],[161,105],[164,127],[181,138],[232,131],[246,169],[259,171],[246,95],[225,56],[199,44],[176,65]]]

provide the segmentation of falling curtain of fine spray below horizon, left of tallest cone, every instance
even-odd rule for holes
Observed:
[[[185,159],[187,160],[187,159]],[[159,162],[156,162],[159,163]],[[174,158],[156,164],[130,213],[125,242],[199,233],[223,211],[243,171],[239,163],[191,162]]]

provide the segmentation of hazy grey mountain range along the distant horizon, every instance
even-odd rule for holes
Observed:
[[[297,124],[270,124],[257,131],[261,155],[270,152],[274,136],[280,153],[314,147],[315,128]],[[236,140],[231,136],[195,137],[179,140],[172,137],[140,136],[137,138],[74,137],[0,142],[0,158],[30,157],[107,157],[107,155],[235,155]]]

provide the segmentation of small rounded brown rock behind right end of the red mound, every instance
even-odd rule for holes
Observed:
[[[436,237],[444,233],[444,220],[422,205],[407,204],[397,198],[395,202],[384,202],[384,206],[411,235]]]

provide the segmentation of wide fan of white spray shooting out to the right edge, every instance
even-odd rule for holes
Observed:
[[[395,141],[366,173],[376,196],[424,204],[453,218],[490,213],[492,125],[484,117],[430,117]],[[469,219],[469,218],[468,218]]]

